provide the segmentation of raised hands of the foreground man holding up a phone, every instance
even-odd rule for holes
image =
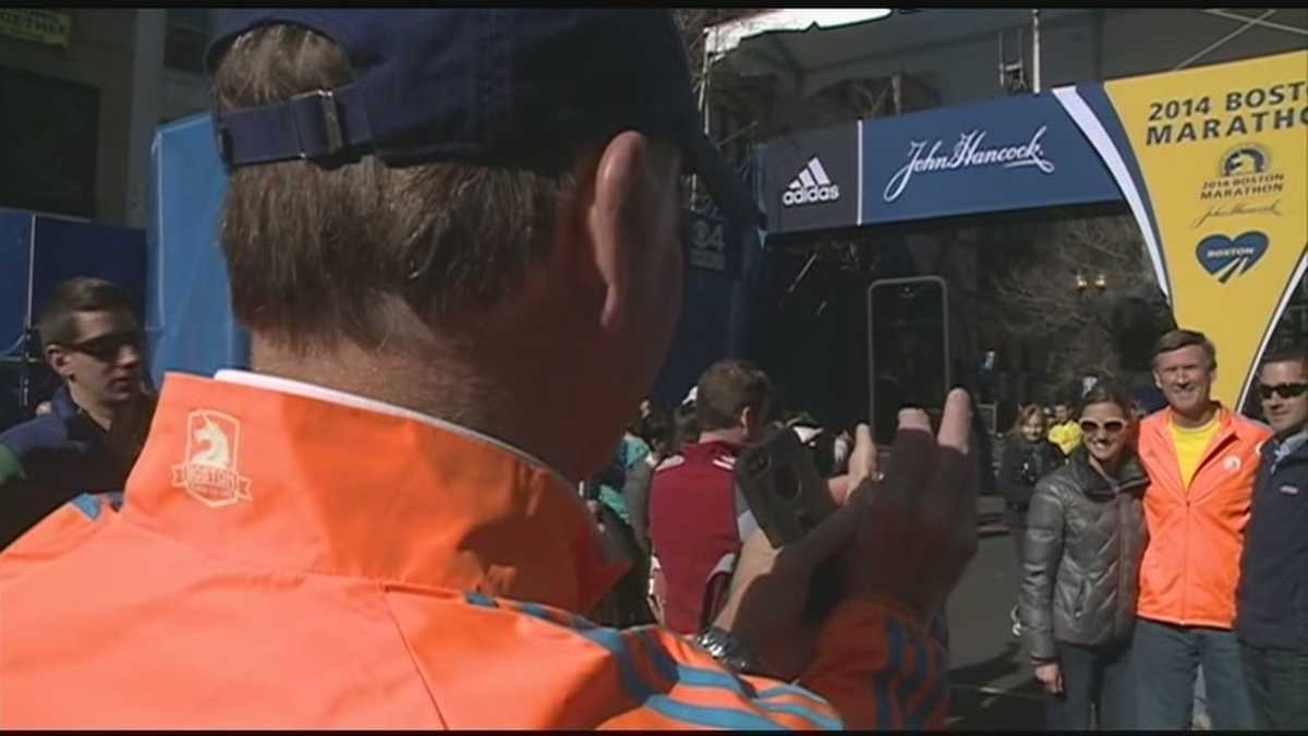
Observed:
[[[838,566],[842,600],[884,602],[926,625],[976,554],[971,427],[964,390],[950,393],[935,436],[925,413],[900,413],[884,475],[861,427],[850,477],[829,483],[837,512],[780,550],[760,530],[744,541],[714,625],[748,643],[760,673],[793,680],[812,661],[820,622],[803,613],[824,564]]]

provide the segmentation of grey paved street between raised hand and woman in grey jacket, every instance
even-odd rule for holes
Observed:
[[[1002,507],[995,496],[981,499],[980,549],[950,601],[955,731],[1044,729],[1040,690],[1010,635],[1018,561],[1012,540],[997,523]]]

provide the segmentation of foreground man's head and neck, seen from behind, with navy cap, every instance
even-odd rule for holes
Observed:
[[[234,9],[207,64],[255,369],[569,477],[607,460],[664,361],[680,175],[756,217],[667,10]]]

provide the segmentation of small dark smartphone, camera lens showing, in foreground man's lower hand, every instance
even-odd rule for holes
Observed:
[[[735,483],[774,547],[798,542],[836,511],[812,453],[791,430],[746,448],[735,464]]]

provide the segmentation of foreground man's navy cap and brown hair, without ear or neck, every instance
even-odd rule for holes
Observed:
[[[667,10],[229,10],[207,63],[233,308],[289,347],[500,306],[549,258],[578,162],[623,131],[755,207],[695,120]]]

